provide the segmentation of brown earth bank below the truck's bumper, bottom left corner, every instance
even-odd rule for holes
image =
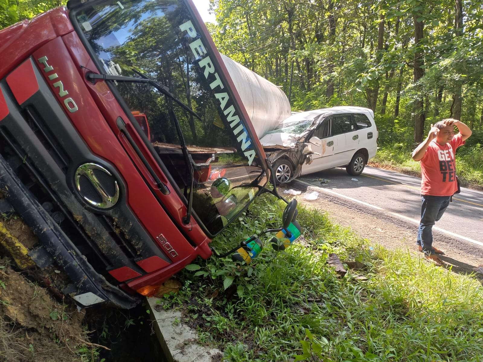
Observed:
[[[58,303],[9,263],[0,260],[0,361],[79,361],[84,313]]]

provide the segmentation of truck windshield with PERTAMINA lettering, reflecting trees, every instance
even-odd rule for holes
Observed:
[[[212,236],[244,209],[267,182],[216,51],[184,1],[103,1],[75,14],[107,74],[139,77],[169,91],[201,117],[183,110],[150,84],[115,83],[180,194],[188,198],[190,172],[174,111],[194,168],[193,210]]]

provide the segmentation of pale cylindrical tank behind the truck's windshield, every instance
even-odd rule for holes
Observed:
[[[291,113],[290,102],[275,84],[221,55],[258,138],[276,129]]]

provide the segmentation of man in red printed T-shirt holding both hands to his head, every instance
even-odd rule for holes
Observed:
[[[459,133],[455,135],[455,126]],[[443,252],[433,247],[432,228],[440,220],[458,189],[456,183],[456,149],[465,144],[471,130],[455,119],[443,119],[431,125],[426,139],[412,151],[412,159],[421,161],[421,221],[416,245],[424,251],[426,259],[444,265],[437,254]]]

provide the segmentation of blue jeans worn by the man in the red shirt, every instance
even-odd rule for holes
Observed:
[[[419,223],[416,245],[421,245],[425,254],[432,254],[433,225],[441,219],[450,204],[451,196],[421,195],[421,221]]]

